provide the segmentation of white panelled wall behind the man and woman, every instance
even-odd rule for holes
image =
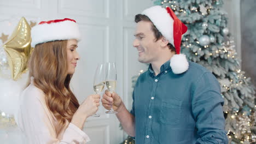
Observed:
[[[10,35],[22,16],[28,23],[65,17],[75,19],[83,35],[78,47],[81,60],[71,83],[78,100],[82,102],[94,93],[92,85],[96,64],[114,61],[118,68],[117,93],[131,109],[131,77],[146,69],[146,65],[137,62],[137,51],[132,47],[133,17],[151,5],[150,0],[1,0],[0,34]],[[90,117],[85,123],[84,130],[92,140],[90,143],[123,141],[126,135],[120,130],[117,118],[104,114],[104,109],[100,112],[101,117]],[[11,131],[1,134],[0,143],[19,143],[18,138],[12,138],[14,134]]]

